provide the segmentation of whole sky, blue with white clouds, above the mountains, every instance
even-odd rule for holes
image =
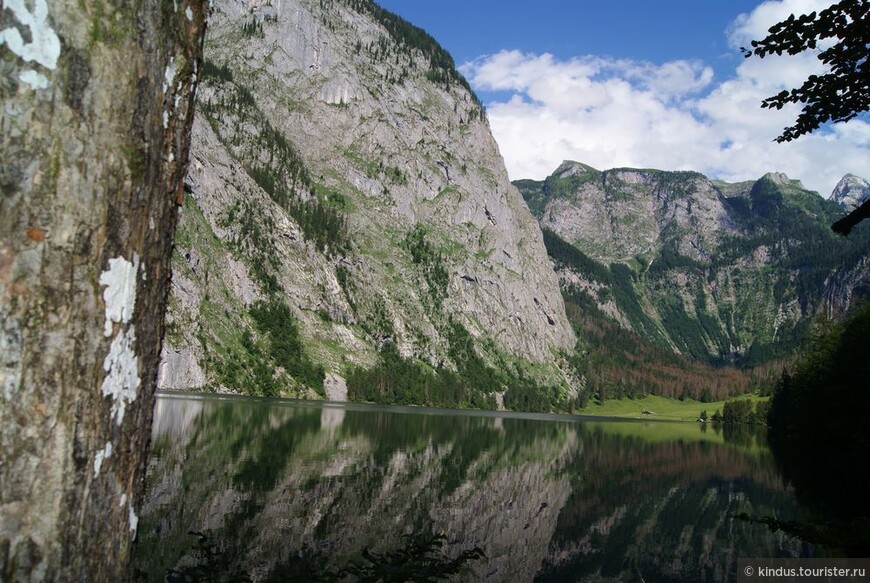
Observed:
[[[812,55],[738,50],[825,1],[379,3],[450,51],[487,105],[512,179],[544,178],[563,159],[729,181],[782,171],[825,196],[846,173],[870,177],[866,118],[772,141],[797,109],[758,105],[819,72]]]

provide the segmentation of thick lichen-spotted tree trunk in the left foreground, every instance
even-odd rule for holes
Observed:
[[[0,580],[120,581],[207,0],[3,0]]]

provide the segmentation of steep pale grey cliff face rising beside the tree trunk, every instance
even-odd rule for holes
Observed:
[[[392,341],[451,369],[469,336],[560,377],[574,337],[540,230],[431,37],[367,1],[218,1],[202,83],[164,387],[313,396],[318,367]]]

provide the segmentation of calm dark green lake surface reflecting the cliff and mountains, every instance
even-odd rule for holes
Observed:
[[[694,582],[734,581],[740,557],[818,554],[733,518],[803,518],[764,435],[702,429],[164,394],[137,569],[147,581]]]

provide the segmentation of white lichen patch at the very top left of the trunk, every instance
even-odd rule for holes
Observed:
[[[0,31],[0,45],[5,44],[25,62],[36,63],[53,71],[60,57],[60,39],[48,23],[46,1],[35,0],[33,12],[30,11],[25,0],[5,0],[3,8],[12,12],[12,16],[22,26],[30,29],[30,42],[25,42],[17,28],[9,27]],[[48,87],[48,79],[45,75],[32,69],[21,71],[18,78],[34,89]]]

